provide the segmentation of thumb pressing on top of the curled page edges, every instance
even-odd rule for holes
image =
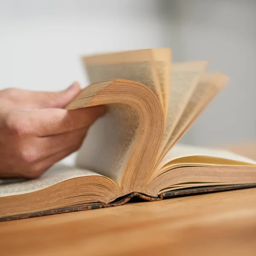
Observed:
[[[36,101],[41,108],[64,108],[80,91],[80,84],[74,82],[63,91],[37,92]]]

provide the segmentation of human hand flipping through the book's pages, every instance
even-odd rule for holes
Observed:
[[[78,83],[55,93],[0,91],[0,178],[38,177],[79,149],[105,113],[104,106],[63,109],[80,91]]]

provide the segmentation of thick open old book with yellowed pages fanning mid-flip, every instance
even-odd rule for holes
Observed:
[[[107,105],[74,167],[0,184],[0,220],[256,186],[256,162],[228,151],[175,145],[228,82],[207,61],[173,63],[171,50],[83,58],[91,85],[68,110]]]

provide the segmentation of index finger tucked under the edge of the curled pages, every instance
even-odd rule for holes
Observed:
[[[105,106],[75,110],[46,108],[29,112],[23,117],[23,122],[26,122],[26,126],[32,127],[33,133],[37,137],[44,137],[89,127],[105,111]]]

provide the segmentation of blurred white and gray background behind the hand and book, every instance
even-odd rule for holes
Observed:
[[[84,87],[81,55],[154,47],[231,77],[183,143],[256,140],[255,0],[0,0],[0,90]]]

